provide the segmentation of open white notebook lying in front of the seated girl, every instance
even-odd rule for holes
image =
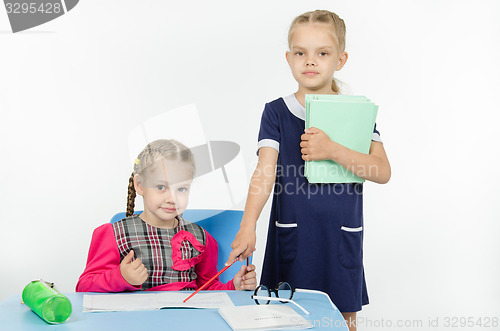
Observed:
[[[155,310],[161,308],[234,307],[225,292],[199,292],[186,303],[191,292],[85,294],[84,312]]]

